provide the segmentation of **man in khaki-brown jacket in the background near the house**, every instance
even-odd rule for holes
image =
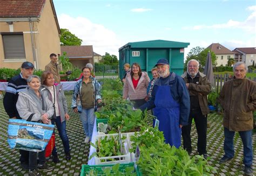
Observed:
[[[55,78],[55,82],[60,83],[60,77],[66,76],[67,74],[59,74],[61,69],[57,64],[58,58],[56,54],[51,53],[50,59],[51,59],[50,63],[45,66],[45,71],[50,71]]]

